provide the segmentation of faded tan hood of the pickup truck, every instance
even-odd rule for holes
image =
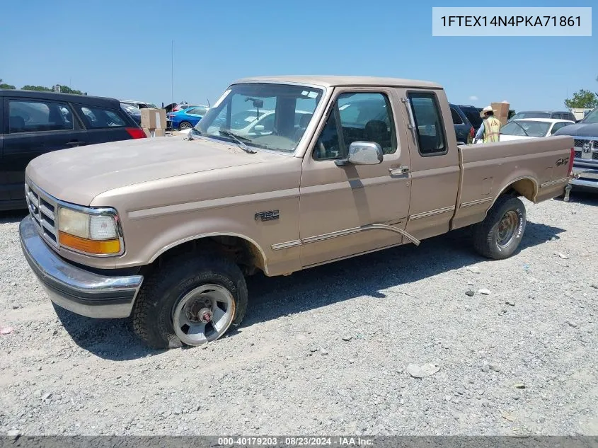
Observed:
[[[226,142],[156,137],[52,151],[33,159],[25,174],[60,200],[89,205],[114,188],[260,163],[268,156],[247,154]]]

